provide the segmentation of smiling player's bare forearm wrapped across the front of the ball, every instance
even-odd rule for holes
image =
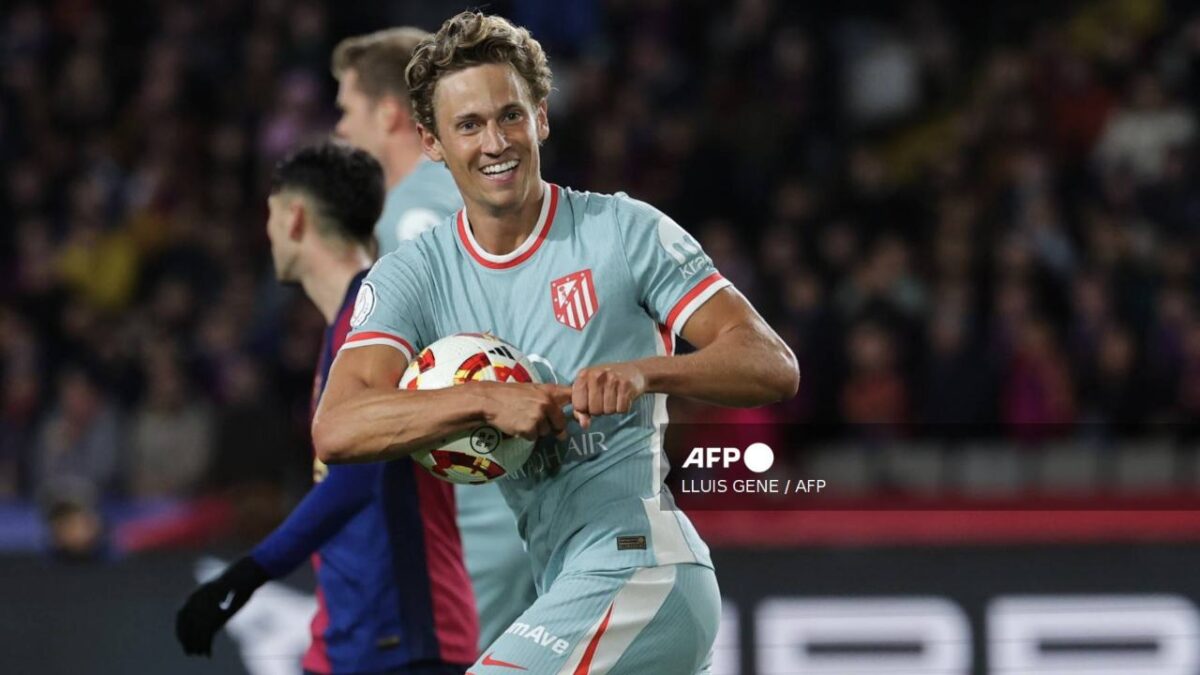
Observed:
[[[482,402],[468,389],[362,389],[317,410],[313,449],[326,464],[408,456],[484,420]]]

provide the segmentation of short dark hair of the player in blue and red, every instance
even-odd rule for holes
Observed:
[[[371,243],[385,191],[383,167],[366,151],[329,142],[296,150],[271,173],[271,195],[284,190],[312,197],[323,234]]]

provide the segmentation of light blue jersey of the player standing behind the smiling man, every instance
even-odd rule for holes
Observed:
[[[379,253],[395,251],[462,208],[454,178],[440,162],[421,160],[388,191],[376,223]],[[498,485],[456,485],[458,532],[479,610],[480,649],[494,640],[538,597],[529,556]]]

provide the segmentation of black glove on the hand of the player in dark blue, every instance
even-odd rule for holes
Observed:
[[[175,615],[175,637],[184,653],[212,656],[212,637],[269,580],[266,571],[246,556],[192,591]]]

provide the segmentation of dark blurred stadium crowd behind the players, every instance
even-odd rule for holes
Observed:
[[[0,497],[296,495],[322,319],[265,178],[338,38],[450,8],[125,5],[0,11]],[[791,342],[755,419],[1200,419],[1200,11],[793,5],[491,7],[552,58],[546,174],[661,207]]]

